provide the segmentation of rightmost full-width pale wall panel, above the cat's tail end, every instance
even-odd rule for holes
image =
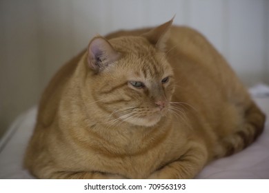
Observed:
[[[264,68],[264,1],[229,1],[229,56],[233,68],[248,84],[259,81]]]

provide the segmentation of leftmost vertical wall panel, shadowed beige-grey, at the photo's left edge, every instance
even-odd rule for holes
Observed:
[[[39,98],[37,2],[0,1],[0,138]]]

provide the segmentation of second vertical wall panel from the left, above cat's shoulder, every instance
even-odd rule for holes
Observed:
[[[39,1],[39,52],[42,84],[46,85],[57,69],[74,52],[72,12],[67,1]]]

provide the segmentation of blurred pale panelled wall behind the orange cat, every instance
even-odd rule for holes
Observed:
[[[175,24],[202,32],[243,83],[269,83],[268,0],[0,0],[0,138],[96,34]]]

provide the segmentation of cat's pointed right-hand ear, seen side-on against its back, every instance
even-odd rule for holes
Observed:
[[[146,34],[142,34],[142,36],[146,37],[146,39],[155,45],[156,48],[164,51],[166,49],[166,41],[169,38],[173,20],[174,17],[170,21],[163,23],[161,26],[146,32]]]

